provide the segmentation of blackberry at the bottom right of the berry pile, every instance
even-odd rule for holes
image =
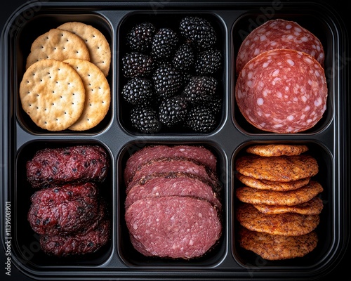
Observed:
[[[185,125],[192,131],[208,133],[216,125],[216,117],[212,110],[204,105],[197,105],[190,108]]]

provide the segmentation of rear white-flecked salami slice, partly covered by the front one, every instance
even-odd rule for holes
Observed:
[[[324,65],[324,49],[310,31],[289,20],[269,20],[256,27],[242,42],[238,54],[237,74],[244,65],[260,53],[276,48],[288,48],[312,55]]]

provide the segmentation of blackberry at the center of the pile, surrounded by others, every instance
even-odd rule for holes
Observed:
[[[157,67],[152,74],[154,91],[159,100],[176,95],[182,85],[182,78],[178,71],[170,63],[164,63]]]

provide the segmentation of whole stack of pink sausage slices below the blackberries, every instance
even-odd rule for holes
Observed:
[[[126,162],[126,225],[145,256],[192,259],[217,244],[222,224],[216,157],[201,146],[155,145]]]

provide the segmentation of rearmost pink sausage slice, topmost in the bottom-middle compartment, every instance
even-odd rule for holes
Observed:
[[[217,159],[213,153],[202,147],[195,145],[148,145],[138,150],[128,158],[126,169],[124,170],[124,179],[126,184],[131,181],[135,170],[139,166],[150,162],[151,160],[164,157],[184,157],[193,159],[201,164],[208,166],[213,172],[216,171]]]

